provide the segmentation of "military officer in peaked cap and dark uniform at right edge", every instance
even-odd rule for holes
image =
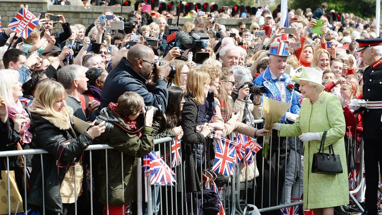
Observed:
[[[356,39],[357,52],[365,65],[363,99],[366,101],[363,122],[364,162],[366,177],[366,206],[363,215],[377,215],[378,163],[382,165],[382,38]]]

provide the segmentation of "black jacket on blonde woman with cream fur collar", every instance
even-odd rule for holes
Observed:
[[[42,207],[42,184],[44,183],[45,210],[63,213],[61,183],[68,168],[76,164],[93,139],[87,132],[74,138],[76,136],[72,129],[60,129],[38,114],[32,113],[31,119],[29,131],[33,134],[32,147],[43,148],[48,151],[48,154],[42,155],[42,161],[40,154],[32,158],[31,191],[28,203]],[[74,129],[73,123],[72,128]],[[44,164],[44,169],[41,168],[41,162]],[[42,181],[43,174],[44,181]],[[84,177],[86,177],[85,174]],[[85,191],[87,190],[86,179],[84,178],[83,181]]]

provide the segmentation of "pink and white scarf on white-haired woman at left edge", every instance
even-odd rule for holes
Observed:
[[[8,116],[13,120],[13,122],[15,122],[16,114],[23,114],[28,118],[28,122],[23,123],[21,126],[20,144],[23,145],[24,143],[30,143],[32,141],[32,134],[28,131],[28,129],[31,126],[31,120],[29,119],[28,112],[26,112],[26,110],[23,108],[23,104],[21,104],[21,101],[19,100],[17,100],[14,105],[8,105]]]

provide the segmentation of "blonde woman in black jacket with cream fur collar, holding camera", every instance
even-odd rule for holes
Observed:
[[[74,214],[74,202],[87,190],[83,187],[86,183],[83,183],[82,154],[93,139],[105,131],[105,122],[99,125],[93,122],[87,131],[77,136],[72,121],[73,109],[66,106],[67,94],[61,83],[43,81],[37,85],[34,95],[28,107],[32,118],[29,130],[34,134],[32,144],[48,153],[32,158],[28,203],[39,208],[45,202],[45,214],[49,215]],[[43,175],[49,177],[43,180]],[[77,180],[73,180],[74,176]],[[41,195],[43,192],[45,195]]]

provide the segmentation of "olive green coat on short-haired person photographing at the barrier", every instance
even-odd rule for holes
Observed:
[[[111,111],[108,111],[108,114],[109,116],[117,117]],[[103,204],[106,204],[106,187],[108,187],[109,205],[122,206],[130,204],[131,195],[134,194],[133,191],[135,191],[137,186],[134,179],[136,178],[136,159],[147,155],[154,148],[153,129],[151,127],[143,127],[141,138],[138,138],[138,135],[129,134],[126,130],[132,131],[118,117],[118,125],[114,124],[111,132],[104,132],[100,136],[102,144],[113,147],[113,149],[107,150],[107,171],[105,152],[100,153],[97,193],[99,202]],[[108,177],[108,183],[106,183],[106,176]]]

